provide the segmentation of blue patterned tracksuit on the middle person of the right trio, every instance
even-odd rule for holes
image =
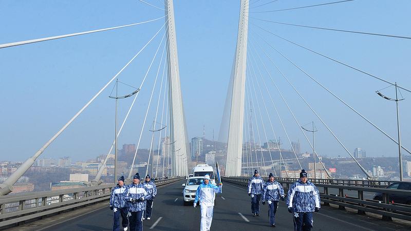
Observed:
[[[278,208],[278,200],[284,197],[284,188],[280,183],[267,181],[263,186],[263,201],[268,203],[268,217],[270,225],[275,224],[275,213]]]

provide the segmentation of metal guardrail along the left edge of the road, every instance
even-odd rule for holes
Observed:
[[[156,185],[165,185],[182,179],[184,177],[157,180]],[[108,200],[113,187],[115,185],[107,184],[0,196],[0,228]]]

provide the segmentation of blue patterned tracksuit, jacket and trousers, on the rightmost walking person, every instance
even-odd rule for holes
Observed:
[[[287,206],[294,211],[294,229],[309,231],[313,227],[312,212],[315,207],[320,208],[320,192],[308,180],[306,183],[298,180],[288,190]]]

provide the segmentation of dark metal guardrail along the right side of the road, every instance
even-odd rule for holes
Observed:
[[[249,178],[246,177],[222,178],[223,181],[232,182],[244,186],[248,185],[248,179]],[[276,178],[275,180],[283,185],[285,191],[287,191],[290,185],[295,182],[291,181],[291,178],[287,178],[286,181],[280,180],[279,178]],[[362,185],[349,186],[339,185],[335,183],[315,183],[315,185],[319,188],[319,190],[322,189],[320,190],[320,197],[321,201],[324,202],[324,205],[335,204],[338,205],[340,209],[345,209],[345,207],[357,209],[358,214],[365,214],[365,212],[379,214],[382,215],[383,220],[398,218],[411,221],[411,205],[390,203],[389,201],[389,194],[409,196],[409,190],[386,189]],[[329,189],[331,188],[338,189],[338,194],[330,194]],[[344,194],[344,190],[357,191],[358,197],[347,197]],[[383,201],[364,199],[364,192],[379,192],[382,194]]]

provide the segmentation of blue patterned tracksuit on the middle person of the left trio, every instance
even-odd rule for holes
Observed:
[[[128,185],[128,210],[131,213],[130,216],[130,231],[142,231],[143,230],[143,212],[146,206],[146,200],[148,189],[143,184],[129,184]],[[132,199],[143,198],[143,201],[133,203]]]

